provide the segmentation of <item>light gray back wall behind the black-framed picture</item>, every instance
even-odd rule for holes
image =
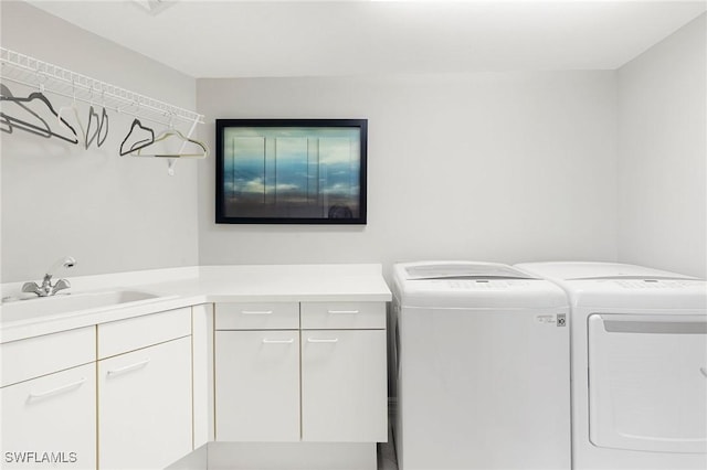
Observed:
[[[211,146],[215,118],[369,119],[368,225],[215,225],[209,160],[200,263],[613,260],[615,83],[614,72],[199,79]]]

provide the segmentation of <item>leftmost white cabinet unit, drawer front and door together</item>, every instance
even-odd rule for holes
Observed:
[[[96,333],[0,344],[0,468],[95,469]]]

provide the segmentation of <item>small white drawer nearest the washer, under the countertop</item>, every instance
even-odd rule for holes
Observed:
[[[303,330],[382,330],[384,328],[384,302],[302,303]]]

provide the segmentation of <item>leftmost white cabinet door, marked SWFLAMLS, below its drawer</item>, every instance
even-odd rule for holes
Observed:
[[[96,365],[0,391],[2,469],[96,468]]]

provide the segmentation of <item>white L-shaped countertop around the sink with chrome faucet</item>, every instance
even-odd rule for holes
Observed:
[[[15,300],[0,307],[0,343],[211,302],[379,301],[391,293],[378,264],[201,266],[66,278],[73,296],[106,290],[157,295],[154,299],[17,318]],[[22,282],[2,286],[2,297],[21,296]],[[27,296],[27,295],[24,295]]]

